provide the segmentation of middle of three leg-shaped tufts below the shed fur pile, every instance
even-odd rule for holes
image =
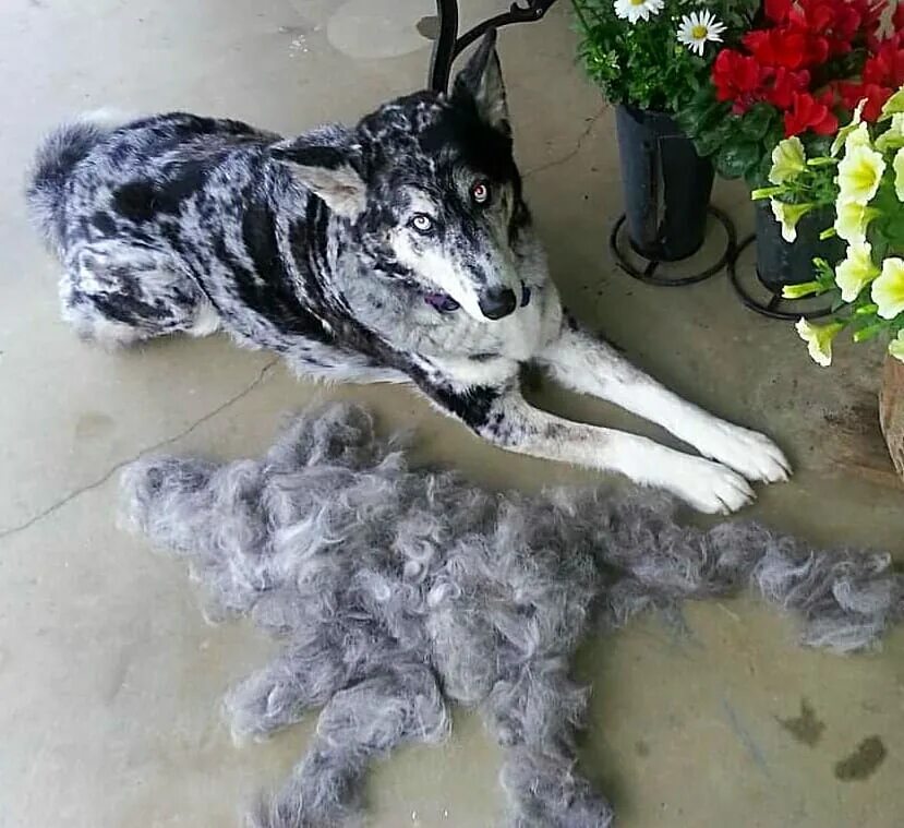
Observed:
[[[255,828],[332,828],[358,815],[367,763],[407,742],[438,742],[449,716],[436,677],[400,660],[342,689],[317,720],[317,734],[292,779],[252,815]]]

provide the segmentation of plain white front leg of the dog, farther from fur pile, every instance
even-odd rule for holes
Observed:
[[[791,466],[769,437],[682,399],[584,331],[564,325],[562,335],[537,359],[566,387],[602,397],[663,425],[748,480],[774,482],[788,477]]]

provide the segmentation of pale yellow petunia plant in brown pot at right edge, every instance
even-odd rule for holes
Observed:
[[[896,48],[895,62],[904,75],[904,48]],[[797,323],[819,365],[831,364],[832,345],[842,332],[855,343],[887,338],[880,419],[895,467],[904,475],[904,76],[901,83],[893,94],[885,88],[863,98],[824,154],[809,154],[796,136],[784,139],[772,166],[781,180],[769,188],[768,197],[773,207],[785,205],[779,213],[786,230],[801,215],[829,216],[821,236],[836,238],[842,254],[817,259],[809,273],[803,272],[806,280],[798,275],[798,284],[785,286],[784,296],[833,297],[830,322]],[[878,109],[877,99],[884,99]]]

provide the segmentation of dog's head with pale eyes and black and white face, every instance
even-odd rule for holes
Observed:
[[[529,296],[517,250],[530,217],[494,32],[449,95],[399,98],[354,130],[302,136],[274,152],[348,219],[383,269],[417,283],[446,308],[497,320]]]

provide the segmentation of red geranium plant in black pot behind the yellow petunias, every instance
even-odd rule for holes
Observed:
[[[839,117],[849,117],[860,98],[875,118],[891,95],[884,84],[895,70],[880,68],[877,56],[888,57],[892,40],[880,37],[894,28],[893,8],[883,12],[880,3],[766,0],[739,43],[715,56],[712,82],[682,112],[697,151],[721,176],[744,178],[757,196],[776,196],[757,211],[757,273],[774,293],[799,281],[815,257],[840,255],[836,239],[820,239],[827,214],[775,188],[799,153],[825,155]],[[793,157],[783,159],[776,147],[792,137],[781,152],[793,148]]]

